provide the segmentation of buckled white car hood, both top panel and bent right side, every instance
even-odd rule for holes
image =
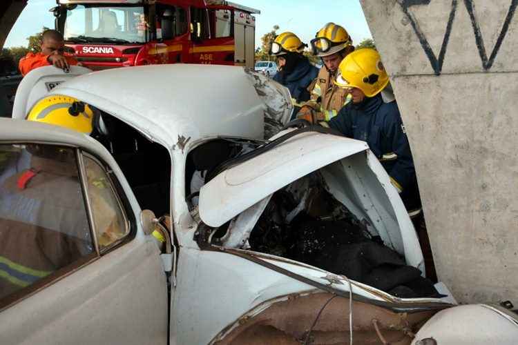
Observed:
[[[387,246],[405,257],[407,264],[423,271],[423,255],[414,226],[387,173],[363,141],[316,132],[291,137],[225,170],[203,186],[200,218],[209,226],[221,226],[240,213],[247,215],[247,208],[320,168],[329,193],[367,224],[371,235],[380,236]],[[259,208],[256,213],[262,210]],[[229,232],[246,232],[247,228],[232,227]],[[237,243],[243,244],[245,239],[237,237]]]

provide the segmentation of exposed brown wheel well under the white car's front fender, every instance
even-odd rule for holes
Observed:
[[[315,311],[320,312],[316,318]],[[330,293],[309,291],[269,300],[234,324],[210,344],[348,344],[350,325],[358,344],[410,344],[419,324],[435,311],[395,313]],[[340,320],[339,322],[337,322]]]

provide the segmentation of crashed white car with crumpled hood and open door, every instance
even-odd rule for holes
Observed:
[[[30,218],[68,242],[81,237],[83,249],[43,274],[1,251],[26,248],[0,245],[0,281],[20,284],[0,293],[0,344],[517,339],[512,312],[455,306],[443,284],[425,279],[412,222],[367,144],[311,126],[264,140],[265,113],[286,119],[291,110],[272,81],[228,66],[56,71],[31,72],[18,119],[0,120],[0,221]],[[21,119],[47,90],[99,110],[104,140]],[[6,184],[26,176],[10,191],[30,193],[23,172],[41,152],[75,166],[40,197],[53,205],[75,186],[80,235],[8,207]]]

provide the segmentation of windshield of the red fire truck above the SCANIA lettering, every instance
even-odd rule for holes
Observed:
[[[70,6],[66,10],[64,37],[74,43],[144,43],[148,39],[148,21],[142,6]]]

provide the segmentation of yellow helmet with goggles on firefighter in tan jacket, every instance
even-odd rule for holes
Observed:
[[[327,23],[311,39],[311,49],[318,57],[333,55],[347,46],[352,46],[352,39],[343,27],[335,23]]]

